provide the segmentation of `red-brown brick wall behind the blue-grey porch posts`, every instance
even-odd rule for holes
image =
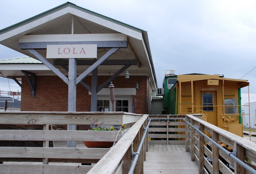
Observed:
[[[105,82],[109,76],[98,76],[98,86]],[[91,86],[91,76],[83,80]],[[137,114],[148,113],[148,97],[150,97],[151,112],[151,93],[148,95],[148,77],[130,76],[125,79],[124,76],[118,76],[112,81],[116,88],[135,88],[136,83],[139,89],[132,98],[137,100]],[[22,98],[21,111],[68,111],[68,85],[58,76],[36,76],[35,96],[31,96],[31,89],[25,76],[22,77]],[[90,111],[91,95],[88,90],[80,83],[76,86],[76,111]]]

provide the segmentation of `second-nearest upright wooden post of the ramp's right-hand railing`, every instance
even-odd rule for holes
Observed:
[[[219,134],[212,131],[212,140],[219,142]],[[212,173],[219,173],[219,148],[212,144]]]

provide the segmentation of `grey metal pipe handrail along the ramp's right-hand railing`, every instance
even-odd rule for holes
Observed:
[[[249,172],[251,172],[252,174],[256,174],[256,171],[249,165],[247,165],[246,163],[244,163],[243,161],[241,161],[239,158],[237,158],[234,154],[234,152],[229,152],[228,150],[226,150],[225,148],[223,148],[222,146],[220,146],[218,143],[216,143],[215,141],[212,140],[212,138],[208,137],[207,135],[204,134],[204,132],[200,131],[197,127],[195,127],[194,125],[192,125],[191,123],[189,123],[186,119],[183,119],[186,123],[188,123],[191,127],[193,127],[196,131],[198,131],[200,134],[202,134],[207,140],[211,141],[215,146],[217,146],[222,152],[224,152],[225,154],[227,154],[230,158],[234,159],[237,163],[239,163],[241,166],[244,167],[244,169],[248,170]]]

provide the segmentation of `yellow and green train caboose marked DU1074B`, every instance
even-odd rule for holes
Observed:
[[[246,86],[247,80],[223,75],[166,74],[164,114],[202,114],[204,121],[243,137],[241,88]]]

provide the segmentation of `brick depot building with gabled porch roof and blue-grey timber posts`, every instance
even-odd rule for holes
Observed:
[[[3,76],[22,82],[21,111],[134,112],[136,99],[135,113],[151,114],[157,83],[146,31],[68,2],[0,30],[0,44],[28,55],[0,60]],[[59,53],[71,45],[75,53],[76,45],[87,44],[97,45],[97,58],[47,57],[49,45]]]

